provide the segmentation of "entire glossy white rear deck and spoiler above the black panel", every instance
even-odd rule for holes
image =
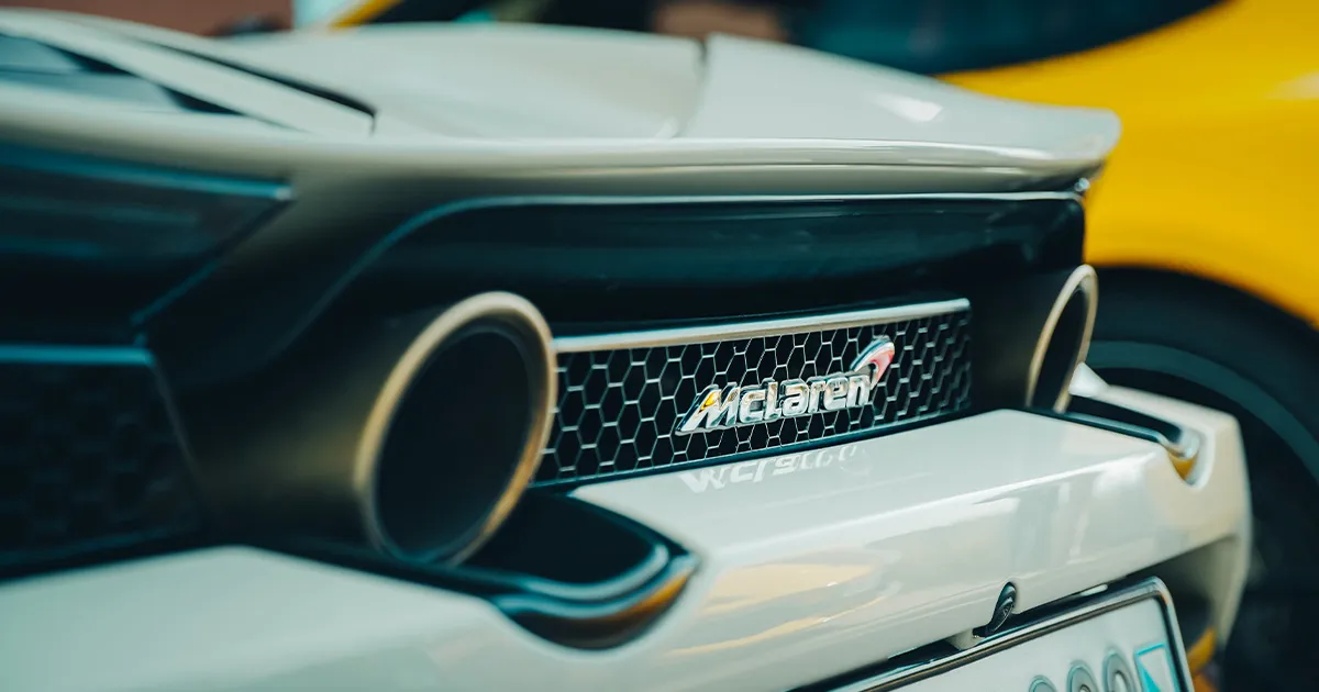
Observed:
[[[1008,101],[731,37],[700,46],[553,26],[383,25],[215,41],[20,9],[0,11],[0,32],[257,116],[150,112],[0,80],[0,141],[359,186],[380,170],[520,183],[506,192],[547,192],[549,182],[608,192],[601,177],[646,194],[1058,188],[1101,166],[1119,134],[1105,111]],[[330,88],[375,113],[198,55]]]

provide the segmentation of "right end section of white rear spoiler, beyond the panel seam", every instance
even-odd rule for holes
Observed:
[[[803,47],[715,36],[706,46],[702,99],[683,133],[926,148],[911,162],[947,162],[938,148],[968,163],[1004,163],[1006,154],[1084,165],[1108,154],[1119,123],[1104,111],[997,99]]]

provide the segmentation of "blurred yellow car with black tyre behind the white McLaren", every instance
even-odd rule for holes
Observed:
[[[518,18],[532,21],[791,41],[1006,98],[1116,111],[1121,144],[1089,195],[1087,254],[1103,301],[1088,362],[1112,382],[1237,415],[1257,559],[1225,687],[1319,688],[1308,660],[1319,621],[1319,223],[1310,199],[1319,1],[347,4],[326,24],[479,18],[481,8],[509,18],[522,8]]]

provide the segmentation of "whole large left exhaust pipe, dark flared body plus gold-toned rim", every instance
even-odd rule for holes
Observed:
[[[222,525],[456,563],[539,464],[557,366],[512,294],[389,320],[203,405],[194,448]],[[214,424],[223,422],[223,424]]]

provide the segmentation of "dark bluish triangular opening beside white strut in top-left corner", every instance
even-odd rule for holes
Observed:
[[[239,115],[112,65],[30,38],[5,34],[0,34],[0,82],[116,101],[149,111]]]

